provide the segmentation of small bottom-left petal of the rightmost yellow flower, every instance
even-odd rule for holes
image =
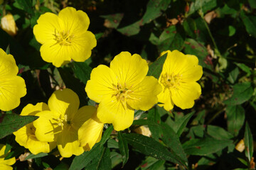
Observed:
[[[162,86],[164,89],[164,86]],[[163,107],[166,111],[171,111],[174,108],[174,101],[171,99],[171,91],[169,89],[164,89],[161,93],[157,96],[158,101],[163,104],[159,104],[158,106]]]

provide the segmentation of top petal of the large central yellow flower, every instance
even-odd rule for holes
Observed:
[[[121,52],[110,62],[110,69],[117,75],[118,82],[129,88],[136,86],[146,77],[149,67],[140,55]]]

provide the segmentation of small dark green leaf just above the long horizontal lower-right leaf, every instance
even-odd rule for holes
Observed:
[[[210,135],[211,137],[217,140],[229,140],[234,137],[232,134],[230,134],[230,132],[215,125],[208,125],[207,132],[208,132],[208,135]]]

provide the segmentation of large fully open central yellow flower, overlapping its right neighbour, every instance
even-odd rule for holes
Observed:
[[[157,103],[161,86],[154,77],[146,77],[146,60],[137,54],[121,52],[110,67],[99,65],[92,70],[85,91],[99,104],[97,118],[112,123],[114,130],[132,125],[134,109],[147,111]]]

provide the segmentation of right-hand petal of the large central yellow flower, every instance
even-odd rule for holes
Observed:
[[[161,85],[154,77],[145,77],[142,82],[132,88],[131,98],[127,103],[134,109],[147,111],[157,103],[157,95],[161,92]]]

